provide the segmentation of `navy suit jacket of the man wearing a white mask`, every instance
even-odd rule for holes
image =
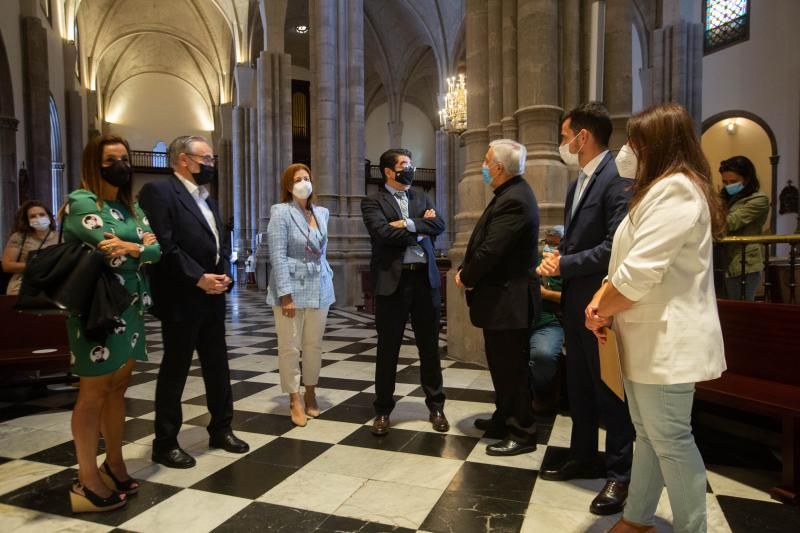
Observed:
[[[567,192],[564,238],[561,239],[562,306],[565,312],[584,313],[586,305],[608,275],[614,232],[628,213],[633,181],[622,178],[611,152],[598,165],[581,195],[575,218],[572,200],[577,180]],[[573,309],[568,309],[568,307]]]

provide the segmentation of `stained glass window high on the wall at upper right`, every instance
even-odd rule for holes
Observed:
[[[750,0],[703,2],[703,51],[715,52],[750,38]]]

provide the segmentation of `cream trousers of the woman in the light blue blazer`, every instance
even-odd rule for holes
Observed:
[[[300,391],[300,352],[303,353],[303,383],[315,386],[322,362],[322,335],[328,308],[296,309],[294,318],[283,316],[279,306],[273,306],[275,331],[278,334],[278,369],[281,390]]]

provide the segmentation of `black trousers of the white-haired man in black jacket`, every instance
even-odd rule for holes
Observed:
[[[483,330],[486,361],[495,392],[497,426],[505,426],[510,439],[528,442],[536,438],[528,376],[527,329]]]

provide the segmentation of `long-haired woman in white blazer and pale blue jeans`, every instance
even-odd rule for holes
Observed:
[[[725,370],[712,265],[724,218],[683,107],[643,111],[628,139],[618,168],[636,169],[631,209],[614,235],[607,283],[586,309],[601,343],[603,328],[616,333],[636,428],[628,501],[612,531],[655,531],[664,485],[675,531],[705,531],[705,466],[691,413],[694,384]]]

